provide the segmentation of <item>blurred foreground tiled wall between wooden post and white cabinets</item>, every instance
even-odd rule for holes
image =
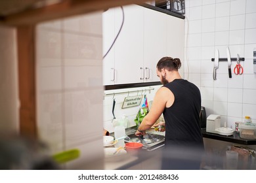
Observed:
[[[101,12],[39,24],[37,123],[51,152],[78,148],[66,169],[103,169]],[[93,163],[91,163],[93,161]]]

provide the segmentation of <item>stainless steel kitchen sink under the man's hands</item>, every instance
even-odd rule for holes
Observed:
[[[143,144],[144,149],[151,151],[157,148],[160,148],[164,145],[165,136],[158,135],[154,133],[146,133],[144,137],[138,137],[135,133],[127,135],[128,137],[125,138],[125,142],[140,142]]]

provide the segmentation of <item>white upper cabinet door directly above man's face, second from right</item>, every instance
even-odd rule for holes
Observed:
[[[156,64],[167,56],[167,16],[162,12],[144,10],[145,82],[158,82]]]

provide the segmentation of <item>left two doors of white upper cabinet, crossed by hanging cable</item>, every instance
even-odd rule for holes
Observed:
[[[138,83],[143,80],[144,7],[123,7],[124,22],[117,40],[103,59],[104,85]],[[103,13],[103,52],[106,54],[123,21],[121,7]],[[142,78],[142,80],[140,79]]]

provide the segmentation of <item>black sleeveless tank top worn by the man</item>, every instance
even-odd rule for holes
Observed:
[[[163,110],[165,145],[203,147],[200,128],[201,94],[198,87],[183,79],[165,84],[175,97],[173,105]]]

